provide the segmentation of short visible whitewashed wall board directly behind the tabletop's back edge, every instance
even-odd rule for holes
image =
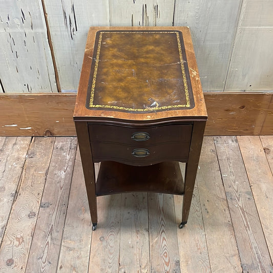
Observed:
[[[172,26],[174,0],[109,0],[111,26]]]

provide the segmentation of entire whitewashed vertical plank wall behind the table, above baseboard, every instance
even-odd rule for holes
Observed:
[[[272,12],[271,0],[2,0],[0,92],[76,92],[88,28],[109,25],[186,25],[204,91],[272,91]]]

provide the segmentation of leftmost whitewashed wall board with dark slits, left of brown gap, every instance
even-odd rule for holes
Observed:
[[[56,92],[41,1],[0,4],[0,77],[5,92]]]

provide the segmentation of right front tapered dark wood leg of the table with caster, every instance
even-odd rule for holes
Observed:
[[[187,223],[188,215],[190,214],[194,184],[205,131],[205,124],[205,121],[194,121],[193,124],[190,154],[188,156],[188,161],[186,163],[185,169],[182,222],[179,225],[179,228],[182,228]]]

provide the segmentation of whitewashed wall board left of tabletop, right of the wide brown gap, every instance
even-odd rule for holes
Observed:
[[[61,91],[77,90],[90,26],[109,25],[108,0],[44,0]]]

